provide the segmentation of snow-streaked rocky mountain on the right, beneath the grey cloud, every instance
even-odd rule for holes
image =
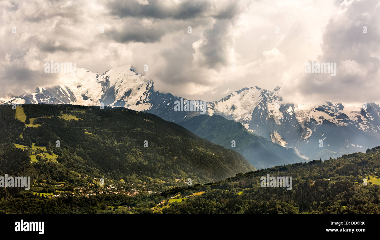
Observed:
[[[365,152],[380,144],[380,106],[324,102],[283,104],[276,87],[243,88],[212,102],[212,113],[241,122],[256,135],[311,159]]]

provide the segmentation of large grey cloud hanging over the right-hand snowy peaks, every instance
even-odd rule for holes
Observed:
[[[346,102],[378,99],[380,8],[375,7],[377,4],[375,0],[342,3],[340,7],[345,10],[331,18],[323,34],[323,54],[313,59],[315,62],[336,62],[337,75],[302,74],[296,87],[302,96]]]

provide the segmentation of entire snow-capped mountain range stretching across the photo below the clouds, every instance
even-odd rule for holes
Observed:
[[[73,75],[60,74],[59,83],[55,87],[37,87],[34,93],[8,95],[0,98],[0,104],[100,106],[103,103],[149,112],[177,123],[201,114],[176,111],[180,97],[154,91],[153,81],[135,73],[130,66],[113,68],[103,74],[76,69]],[[380,145],[378,104],[368,103],[366,108],[330,102],[289,104],[283,103],[279,89],[243,88],[219,101],[208,102],[206,114],[241,122],[252,133],[283,147],[293,147],[304,158],[334,158]]]

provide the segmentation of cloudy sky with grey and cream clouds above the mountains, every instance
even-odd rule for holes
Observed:
[[[380,104],[379,0],[1,1],[0,21],[0,97],[58,85],[53,60],[131,66],[189,99],[280,86],[289,103]]]

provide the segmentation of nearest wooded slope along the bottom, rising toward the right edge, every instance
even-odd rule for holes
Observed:
[[[141,193],[0,202],[9,213],[380,213],[380,147],[237,174],[220,182]],[[292,189],[261,187],[261,177],[291,176]],[[367,185],[363,185],[363,179]],[[16,204],[18,203],[18,204]]]

